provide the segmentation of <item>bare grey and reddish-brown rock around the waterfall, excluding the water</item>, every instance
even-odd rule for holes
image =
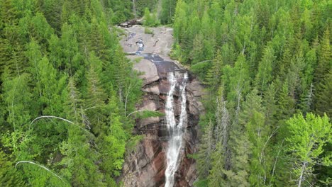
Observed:
[[[172,62],[169,58],[164,60],[162,51],[167,51],[162,42],[172,42],[172,40],[163,41],[157,38],[157,42],[153,42],[155,38],[151,35],[143,34],[143,28],[136,26],[128,33],[130,38],[122,40],[123,48],[126,52],[137,50],[135,42],[139,39],[145,43],[145,49],[157,49],[158,53],[142,53],[140,57],[144,57],[135,64],[135,69],[143,72],[140,77],[143,79],[143,101],[138,106],[138,110],[159,111],[165,113],[165,103],[167,93],[170,90],[170,82],[167,80],[167,74],[170,72],[187,72],[176,62]],[[141,30],[141,31],[140,31]],[[154,33],[160,35],[168,35],[165,38],[172,38],[170,28],[155,28]],[[135,35],[133,35],[135,33]],[[160,36],[159,35],[159,36]],[[153,46],[150,46],[149,43]],[[146,45],[147,44],[147,45]],[[129,47],[128,47],[129,46]],[[147,50],[147,51],[148,51]],[[145,51],[144,51],[145,52]],[[148,51],[149,52],[149,51]],[[139,56],[128,56],[132,60]],[[167,59],[167,57],[165,57]],[[197,152],[197,123],[199,115],[204,112],[202,104],[199,102],[203,95],[203,88],[199,81],[192,77],[189,73],[187,82],[187,123],[183,134],[182,152],[179,154],[179,166],[175,173],[175,186],[193,186],[197,179],[196,164],[194,159],[188,157],[189,154]],[[179,120],[180,103],[179,91],[174,94],[174,111],[175,120]],[[128,153],[126,162],[123,166],[123,175],[121,181],[124,186],[165,186],[165,169],[167,142],[170,135],[167,132],[165,117],[147,118],[138,120],[135,125],[135,133],[143,135],[143,140],[138,144],[134,152]]]

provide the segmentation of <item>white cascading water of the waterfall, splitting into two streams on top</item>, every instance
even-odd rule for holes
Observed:
[[[180,77],[181,78],[181,77]],[[183,74],[182,83],[179,85],[179,94],[181,101],[181,113],[179,116],[179,123],[176,123],[175,120],[175,110],[174,110],[174,99],[173,95],[175,92],[175,88],[177,86],[177,78],[174,73],[169,73],[167,77],[170,82],[170,91],[167,94],[166,100],[166,121],[167,121],[167,130],[170,132],[170,140],[168,141],[167,147],[167,168],[165,171],[165,187],[173,187],[175,183],[175,172],[178,168],[179,162],[179,153],[182,149],[182,135],[184,133],[183,126],[184,123],[187,123],[187,94],[186,94],[186,86],[187,86],[187,73]]]

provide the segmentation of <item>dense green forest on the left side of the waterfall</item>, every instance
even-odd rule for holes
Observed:
[[[141,82],[109,26],[129,18],[130,1],[0,2],[1,186],[116,186]]]

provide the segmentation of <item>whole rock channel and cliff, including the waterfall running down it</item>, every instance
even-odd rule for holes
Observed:
[[[168,54],[172,28],[142,26],[126,28],[121,40],[128,58],[139,62],[134,68],[143,74],[143,101],[138,110],[159,111],[163,117],[138,120],[135,133],[143,135],[136,150],[126,156],[124,186],[193,186],[196,163],[188,157],[197,152],[197,123],[204,112],[199,102],[204,94],[199,81]]]

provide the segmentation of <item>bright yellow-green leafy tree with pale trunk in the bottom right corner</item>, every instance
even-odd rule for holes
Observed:
[[[294,115],[286,124],[289,130],[289,137],[286,138],[287,155],[292,158],[289,161],[292,164],[289,183],[301,186],[304,180],[314,175],[315,164],[332,164],[331,152],[322,155],[323,147],[331,142],[331,123],[326,115],[320,117],[307,113],[305,118],[303,115]]]

